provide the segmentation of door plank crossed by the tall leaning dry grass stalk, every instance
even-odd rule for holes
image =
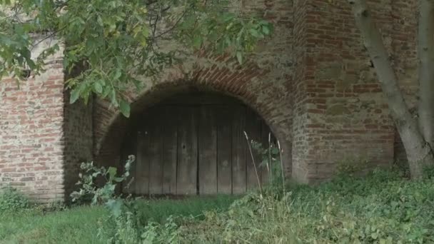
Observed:
[[[256,113],[251,110],[246,110],[246,132],[248,135],[248,140],[261,141],[261,120],[258,118]],[[247,189],[258,188],[258,176],[256,176],[256,171],[253,166],[253,161],[251,157],[251,152],[248,147],[246,148],[246,171],[247,171]],[[258,170],[259,179],[261,180],[261,172],[259,171],[259,165],[261,163],[261,157],[252,148],[254,162],[256,164],[256,169]]]

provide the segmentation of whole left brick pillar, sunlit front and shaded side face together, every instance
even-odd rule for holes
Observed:
[[[50,44],[43,42],[34,56]],[[0,185],[34,200],[69,200],[79,165],[93,158],[92,103],[69,103],[62,56],[52,56],[41,76],[0,86]]]

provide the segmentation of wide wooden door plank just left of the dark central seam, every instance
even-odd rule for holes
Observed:
[[[196,108],[185,106],[179,110],[178,126],[178,166],[176,193],[196,195],[198,158],[198,134]]]

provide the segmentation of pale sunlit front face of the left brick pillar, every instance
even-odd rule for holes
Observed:
[[[41,45],[48,46],[49,41]],[[20,88],[11,78],[0,82],[0,185],[24,190],[39,202],[64,199],[60,54],[48,61],[46,73],[21,82]]]

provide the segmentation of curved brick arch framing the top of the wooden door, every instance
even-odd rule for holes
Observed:
[[[226,62],[228,63],[228,62]],[[147,82],[141,93],[127,93],[131,101],[131,117],[170,96],[188,91],[213,91],[238,98],[253,108],[278,138],[286,158],[286,170],[291,171],[291,93],[288,87],[272,80],[273,73],[261,70],[256,64],[245,68],[194,66],[191,72],[183,68],[166,71],[158,81]],[[274,81],[274,82],[273,82]],[[119,111],[109,108],[106,101],[96,101],[94,107],[94,154],[104,165],[117,165],[123,161],[119,153],[128,128],[128,119]]]

